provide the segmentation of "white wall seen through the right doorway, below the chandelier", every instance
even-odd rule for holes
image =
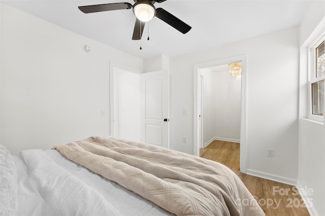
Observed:
[[[213,140],[239,142],[241,81],[228,65],[200,69],[203,77],[203,145]]]

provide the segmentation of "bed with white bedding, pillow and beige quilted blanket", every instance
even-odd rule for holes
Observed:
[[[0,145],[0,193],[0,215],[265,215],[224,165],[113,137]]]

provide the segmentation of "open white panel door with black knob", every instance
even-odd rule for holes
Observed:
[[[169,148],[169,71],[141,74],[141,140]]]

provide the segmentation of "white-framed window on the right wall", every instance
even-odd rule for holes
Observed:
[[[311,112],[316,117],[324,116],[325,41],[311,48],[310,88]]]

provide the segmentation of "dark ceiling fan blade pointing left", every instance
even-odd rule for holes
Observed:
[[[102,11],[115,11],[123,9],[131,9],[133,6],[129,3],[111,3],[111,4],[102,4],[102,5],[88,5],[78,7],[80,11],[85,14],[102,12]]]

